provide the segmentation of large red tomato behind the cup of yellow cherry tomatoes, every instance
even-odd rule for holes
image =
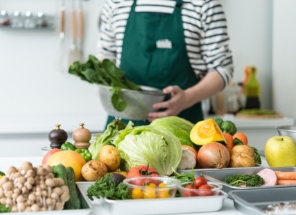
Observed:
[[[128,173],[126,178],[133,178],[133,177],[140,177],[140,176],[159,176],[158,172],[152,167],[145,166],[145,165],[138,165],[133,168],[131,168]],[[135,185],[143,185],[143,184],[148,184],[148,183],[154,183],[158,185],[160,182],[157,180],[149,180],[149,179],[137,179],[132,181],[133,184]]]

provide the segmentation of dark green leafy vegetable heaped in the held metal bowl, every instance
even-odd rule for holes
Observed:
[[[111,102],[117,111],[124,111],[127,106],[121,89],[140,90],[140,86],[125,77],[123,71],[108,59],[100,62],[95,56],[89,55],[86,63],[74,62],[68,72],[91,84],[111,86]]]

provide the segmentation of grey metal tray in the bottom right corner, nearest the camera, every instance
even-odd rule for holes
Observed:
[[[281,187],[258,190],[232,190],[228,194],[233,199],[236,210],[244,214],[261,215],[266,214],[263,208],[267,205],[295,202],[296,201],[296,187]],[[296,211],[294,211],[293,214]],[[287,213],[281,213],[287,214]],[[292,213],[289,213],[292,214]]]

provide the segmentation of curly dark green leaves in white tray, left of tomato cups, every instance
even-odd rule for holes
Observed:
[[[89,199],[94,200],[93,197],[105,197],[108,199],[121,200],[131,199],[128,188],[121,182],[116,186],[116,183],[111,180],[112,173],[107,173],[101,179],[95,181],[86,193]]]

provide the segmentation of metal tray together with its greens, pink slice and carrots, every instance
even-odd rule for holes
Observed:
[[[199,171],[207,180],[223,185],[222,190],[270,189],[296,185],[296,167],[227,168]],[[260,177],[259,177],[260,176]]]

